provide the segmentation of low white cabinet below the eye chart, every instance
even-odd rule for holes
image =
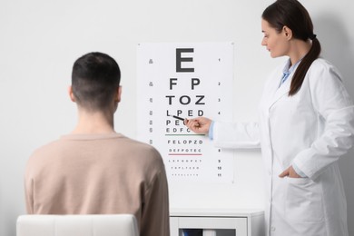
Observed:
[[[203,236],[264,236],[264,212],[248,209],[172,209],[171,236],[202,229]]]

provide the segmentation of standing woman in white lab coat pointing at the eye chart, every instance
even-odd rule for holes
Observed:
[[[265,85],[259,123],[186,120],[216,146],[261,146],[266,173],[266,232],[272,236],[348,236],[339,157],[352,147],[354,107],[338,70],[320,59],[307,10],[278,0],[262,14],[261,44],[289,56]]]

